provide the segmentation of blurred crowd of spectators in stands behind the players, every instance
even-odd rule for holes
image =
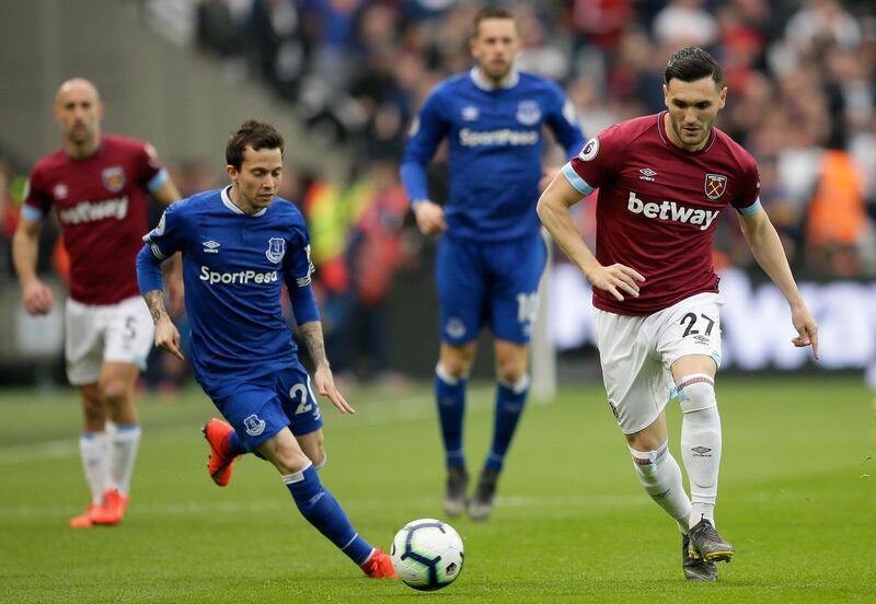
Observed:
[[[445,77],[471,66],[483,4],[456,0],[138,0],[145,18],[233,78],[288,102],[308,136],[349,158],[343,178],[287,166],[281,195],[308,218],[327,347],[341,373],[389,375],[385,300],[400,270],[430,270],[396,169],[411,119]],[[518,67],[560,82],[587,137],[664,108],[662,70],[681,46],[708,49],[729,88],[718,126],[761,169],[761,201],[798,280],[876,277],[876,3],[838,0],[493,2],[519,19]],[[291,142],[296,144],[296,142]],[[46,150],[48,151],[48,150]],[[183,195],[224,184],[173,158]],[[439,150],[433,197],[445,194]],[[556,158],[553,158],[556,161]],[[560,158],[558,162],[563,159]],[[557,163],[558,163],[557,162]],[[0,283],[31,166],[0,160]],[[533,200],[534,204],[534,200]],[[580,204],[592,244],[593,204]],[[41,266],[65,271],[57,231]],[[733,212],[716,264],[756,268]],[[562,255],[561,255],[562,256]],[[562,257],[557,262],[563,262]],[[368,348],[367,355],[361,352]]]

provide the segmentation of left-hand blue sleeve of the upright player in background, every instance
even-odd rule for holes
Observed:
[[[411,125],[400,175],[412,204],[429,199],[426,166],[450,130],[450,123],[440,108],[441,96],[436,91],[426,98],[419,115]]]

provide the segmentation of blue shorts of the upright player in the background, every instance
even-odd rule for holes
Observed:
[[[496,339],[529,344],[546,258],[540,233],[497,242],[441,237],[435,260],[441,340],[468,344],[489,322]]]

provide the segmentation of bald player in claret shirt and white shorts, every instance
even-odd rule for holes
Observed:
[[[72,79],[58,89],[54,117],[62,146],[39,160],[27,181],[13,258],[31,314],[54,305],[36,274],[43,221],[54,208],[70,256],[65,305],[67,376],[82,395],[79,450],[92,502],[70,526],[118,524],[130,492],[140,440],[134,386],[153,326],[137,287],[135,259],[148,229],[148,198],[180,198],[154,150],[140,140],[101,133],[97,89]]]

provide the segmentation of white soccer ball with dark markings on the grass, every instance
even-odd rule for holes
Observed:
[[[459,533],[431,518],[412,520],[395,533],[390,556],[399,579],[420,591],[456,581],[465,559]]]

